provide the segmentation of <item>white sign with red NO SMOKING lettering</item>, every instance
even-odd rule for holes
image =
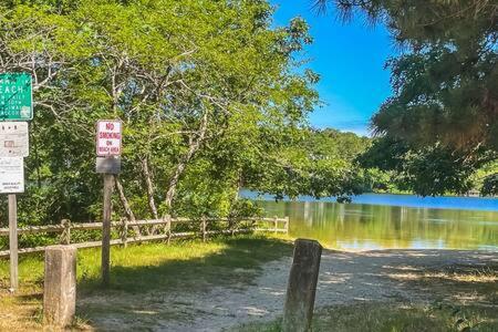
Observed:
[[[120,156],[122,141],[122,122],[118,120],[100,120],[96,132],[97,156]]]

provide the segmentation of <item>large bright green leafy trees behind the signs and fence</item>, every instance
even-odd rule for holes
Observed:
[[[274,157],[318,103],[318,75],[294,70],[308,24],[273,29],[267,1],[19,0],[0,12],[0,70],[34,79],[21,225],[100,218],[98,118],[124,123],[116,215],[253,211],[234,206],[239,188],[284,173]]]

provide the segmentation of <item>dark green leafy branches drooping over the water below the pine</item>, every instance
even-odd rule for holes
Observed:
[[[478,187],[476,169],[488,162],[489,152],[475,157],[440,144],[415,148],[390,136],[377,138],[357,160],[365,168],[377,168],[372,186],[388,190],[380,176],[390,176],[388,191],[409,191],[422,196],[466,194]],[[477,159],[476,159],[477,158]],[[372,175],[373,170],[367,174]],[[394,190],[393,190],[394,189]]]

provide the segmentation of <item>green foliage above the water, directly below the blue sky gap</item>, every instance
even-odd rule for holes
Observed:
[[[270,155],[270,164],[251,173],[245,187],[274,194],[277,199],[351,196],[365,189],[363,170],[354,158],[370,145],[369,138],[335,129],[300,129],[288,135],[287,145]]]

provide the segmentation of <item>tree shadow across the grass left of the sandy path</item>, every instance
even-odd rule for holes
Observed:
[[[245,292],[256,286],[263,264],[292,255],[292,243],[278,239],[235,238],[222,243],[224,249],[200,258],[113,266],[107,290],[97,279],[83,280],[79,284],[79,315],[100,330],[120,325],[127,330],[168,330],[172,322],[188,326],[191,319],[203,314],[195,304],[211,303],[214,288],[227,294]]]

